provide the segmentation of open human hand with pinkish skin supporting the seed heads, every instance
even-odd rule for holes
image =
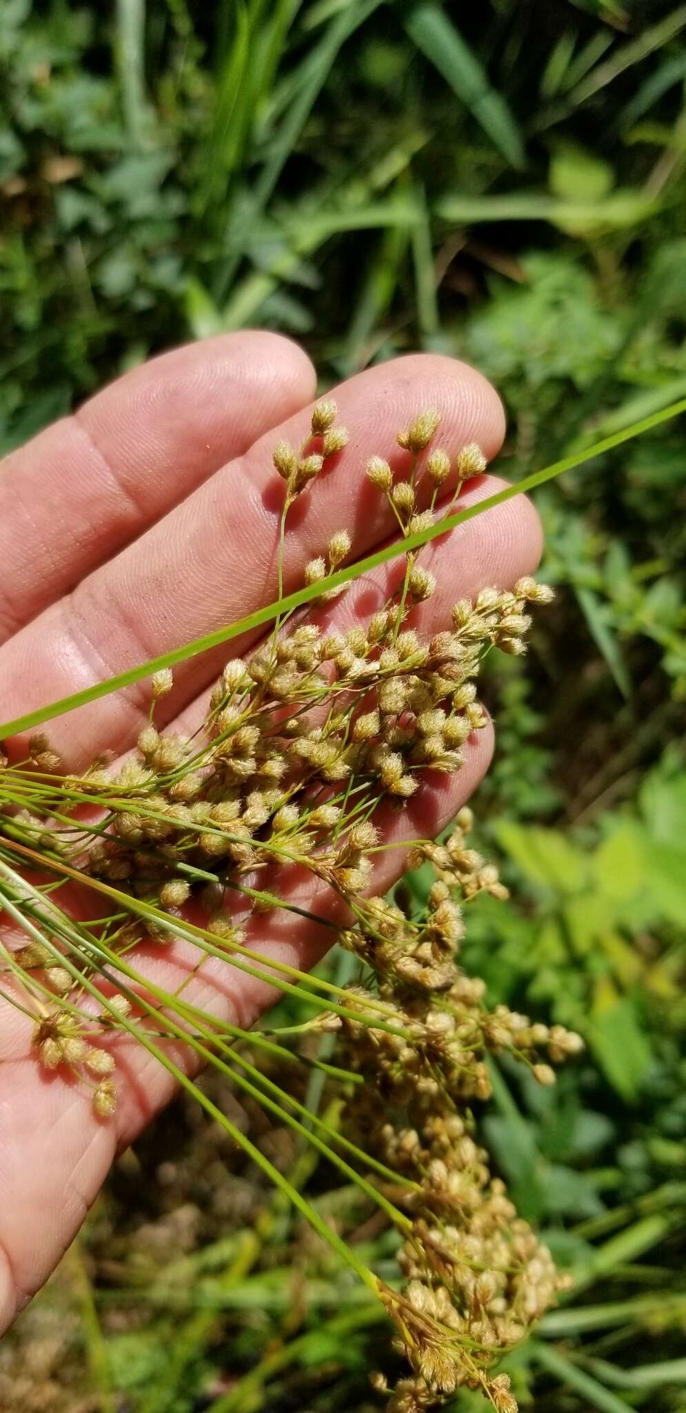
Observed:
[[[315,374],[305,355],[271,333],[237,333],[157,359],[97,394],[75,417],[41,432],[0,465],[0,719],[10,721],[126,667],[212,632],[275,598],[278,506],[271,448],[298,444],[309,425]],[[491,458],[503,438],[498,398],[474,370],[433,355],[381,365],[335,391],[350,432],[336,473],[303,497],[289,530],[284,588],[303,562],[346,526],[351,557],[394,533],[381,497],[364,495],[370,451],[394,456],[395,432],[421,407],[442,414],[447,445],[479,442]],[[466,504],[498,489],[491,476],[467,483]],[[302,513],[301,513],[302,510]],[[425,629],[462,595],[507,588],[529,574],[541,531],[531,504],[515,497],[426,551],[439,591],[422,605]],[[349,620],[368,610],[380,569],[340,601]],[[371,582],[374,581],[374,582]],[[247,647],[231,644],[231,654]],[[193,729],[202,694],[226,656],[206,654],[175,671],[158,709],[161,725]],[[51,742],[66,767],[82,769],[103,747],[126,752],[147,719],[143,688],[131,688],[59,718]],[[463,769],[422,788],[394,817],[401,841],[438,832],[469,798],[491,755],[490,728],[470,740]],[[375,892],[399,872],[381,853]],[[3,938],[16,942],[10,930]],[[305,918],[264,921],[261,947],[299,968],[326,937]],[[138,965],[172,991],[193,966],[189,944],[158,955],[141,947]],[[247,1024],[271,999],[265,983],[209,958],[185,996]],[[32,1024],[0,1002],[0,1328],[42,1284],[72,1241],[119,1150],[168,1102],[169,1074],[130,1046],[116,1115],[102,1122],[59,1071],[41,1074]],[[192,1060],[192,1057],[191,1057]],[[188,1061],[191,1064],[191,1060]]]

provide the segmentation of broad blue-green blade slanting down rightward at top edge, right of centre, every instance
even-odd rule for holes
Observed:
[[[505,99],[491,86],[481,62],[462,38],[443,10],[416,6],[405,25],[409,38],[470,109],[511,167],[525,164],[524,143]]]

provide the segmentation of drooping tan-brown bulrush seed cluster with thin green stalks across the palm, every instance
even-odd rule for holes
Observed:
[[[399,472],[381,456],[367,461],[368,482],[404,538],[439,524],[462,485],[486,468],[476,445],[457,455],[432,447],[438,425],[438,413],[426,410],[398,435],[407,452]],[[274,449],[285,482],[279,599],[288,512],[346,441],[327,400],[315,407],[301,448]],[[375,896],[374,880],[387,856],[384,821],[425,779],[457,771],[470,736],[486,725],[477,694],[484,654],[522,653],[529,608],[552,595],[531,578],[507,591],[484,588],[474,601],[459,599],[440,630],[422,632],[421,606],[435,579],[421,550],[408,545],[388,598],[350,622],[329,606],[342,589],[330,577],[350,552],[342,527],[303,567],[306,585],[323,585],[313,612],[284,612],[261,646],[226,664],[193,735],[155,725],[157,702],[172,687],[164,670],[152,678],[150,722],[123,763],[102,757],[82,774],[61,773],[44,736],[31,739],[25,759],[0,760],[0,907],[24,931],[18,950],[0,944],[3,993],[34,1020],[37,1063],[90,1085],[103,1118],[117,1094],[113,1039],[128,1034],[162,1064],[174,1039],[323,1149],[402,1238],[404,1283],[392,1289],[354,1248],[342,1252],[385,1304],[411,1365],[395,1392],[374,1376],[388,1413],[419,1413],[460,1386],[510,1413],[515,1402],[494,1359],[522,1340],[559,1280],[491,1177],[471,1106],[490,1095],[491,1053],[518,1058],[550,1084],[550,1061],[580,1041],[559,1026],[488,1009],[483,982],[460,968],[464,910],[483,893],[507,897],[497,869],[469,844],[467,808],[442,842],[411,845],[411,863],[429,863],[435,876],[423,910],[409,914]],[[31,879],[38,869],[40,882],[27,882],[25,869]],[[289,889],[302,870],[312,879],[311,910]],[[65,880],[99,903],[85,910],[96,923],[61,910]],[[340,988],[268,965],[250,938],[278,910],[319,923],[354,954],[356,983]],[[292,1033],[309,1036],[302,1063],[322,1065],[340,1087],[344,1126],[332,1129],[278,1089],[246,1058],[243,1030],[193,1007],[183,988],[169,995],[145,979],[134,951],[144,938],[193,942],[196,972],[212,955],[284,992],[298,981],[312,1019],[268,1040],[255,1034],[253,1044],[291,1061]],[[336,1065],[312,1058],[316,1031],[336,1033]]]

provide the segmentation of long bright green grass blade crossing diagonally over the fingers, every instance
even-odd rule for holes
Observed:
[[[672,403],[670,407],[662,408],[659,413],[654,413],[652,417],[645,417],[642,421],[634,422],[631,427],[625,427],[622,431],[614,432],[611,437],[606,437],[603,441],[594,442],[593,447],[574,451],[569,456],[563,456],[560,461],[553,462],[550,466],[543,466],[542,471],[532,472],[531,476],[525,476],[524,480],[518,480],[511,486],[505,486],[503,490],[497,490],[493,496],[487,496],[486,500],[480,500],[476,504],[467,506],[464,510],[457,510],[455,514],[446,516],[436,524],[428,526],[426,530],[418,530],[416,534],[407,536],[402,540],[394,540],[391,544],[384,545],[383,550],[375,550],[374,554],[368,554],[364,558],[357,560],[354,564],[349,564],[346,568],[337,569],[336,574],[329,574],[325,579],[320,579],[316,584],[305,585],[302,589],[296,589],[294,593],[289,593],[282,599],[275,599],[272,603],[267,603],[264,608],[255,609],[254,613],[247,613],[234,623],[216,629],[213,633],[206,633],[202,637],[195,639],[192,643],[185,643],[181,647],[171,649],[168,653],[161,653],[158,657],[150,658],[147,663],[138,663],[136,667],[128,667],[124,673],[117,673],[114,677],[109,677],[103,682],[93,682],[92,687],[86,687],[79,692],[71,692],[68,697],[59,698],[59,701],[48,702],[45,706],[37,708],[37,711],[25,712],[23,716],[16,716],[13,721],[3,722],[0,725],[0,740],[8,736],[16,736],[23,731],[30,731],[31,728],[40,726],[47,721],[54,721],[55,716],[62,716],[65,712],[73,711],[76,706],[85,706],[92,701],[97,701],[100,697],[109,697],[110,692],[119,691],[123,687],[131,687],[134,682],[140,682],[145,677],[151,677],[162,667],[175,667],[178,663],[185,663],[191,657],[198,657],[199,653],[205,653],[212,647],[219,647],[222,643],[229,643],[241,633],[250,633],[255,627],[264,627],[265,623],[272,623],[285,613],[291,613],[294,609],[302,608],[305,603],[319,598],[329,589],[350,584],[353,579],[360,578],[360,575],[368,574],[371,569],[377,569],[384,564],[390,564],[392,560],[408,554],[411,550],[421,550],[422,545],[429,544],[429,541],[435,540],[438,536],[447,534],[449,530],[456,530],[457,526],[466,524],[469,520],[474,520],[477,516],[486,514],[486,512],[491,510],[494,506],[504,504],[504,502],[511,500],[514,496],[522,496],[529,490],[535,490],[538,486],[545,485],[545,482],[555,480],[556,476],[562,476],[566,471],[574,471],[577,466],[583,466],[584,462],[593,461],[596,456],[601,456],[608,451],[614,451],[615,447],[622,447],[624,442],[644,435],[644,432],[651,431],[654,427],[661,427],[663,422],[679,417],[685,411],[686,397],[679,403]]]

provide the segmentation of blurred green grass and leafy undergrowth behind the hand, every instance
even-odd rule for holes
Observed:
[[[323,386],[411,348],[477,363],[511,478],[685,396],[685,35],[686,6],[645,0],[4,0],[1,448],[157,349],[254,324],[302,339]],[[510,1369],[536,1413],[676,1413],[683,422],[538,504],[559,603],[491,674],[477,801],[515,903],[474,909],[467,962],[589,1050],[553,1091],[503,1070],[483,1121],[574,1275]],[[392,1275],[350,1194],[222,1102]],[[0,1407],[371,1410],[384,1338],[179,1102],[6,1338]]]

